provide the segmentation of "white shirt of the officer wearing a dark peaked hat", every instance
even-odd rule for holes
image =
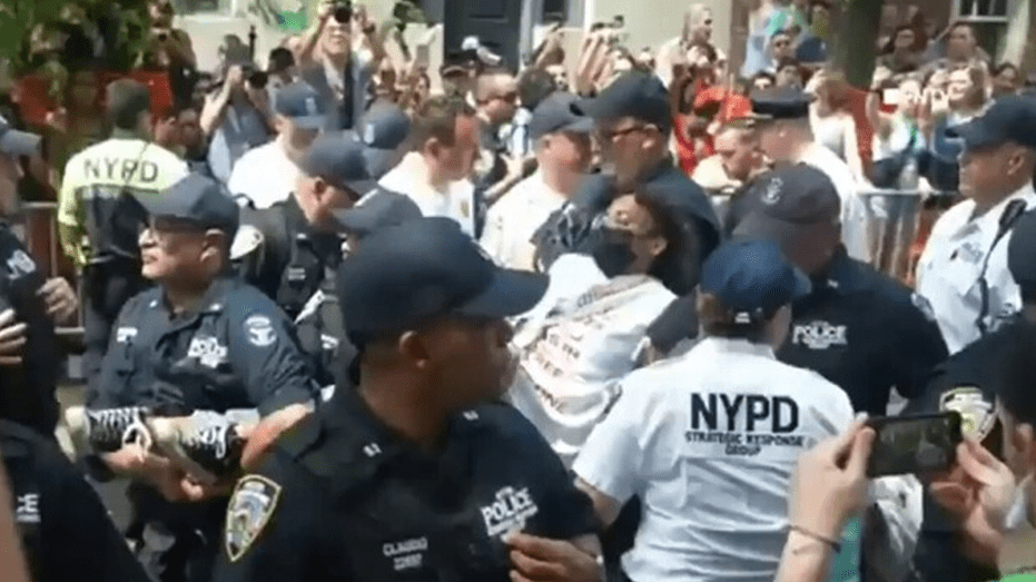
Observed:
[[[849,165],[816,141],[806,146],[799,161],[822,171],[835,184],[841,198],[841,240],[846,250],[850,257],[870,263],[867,207]]]

